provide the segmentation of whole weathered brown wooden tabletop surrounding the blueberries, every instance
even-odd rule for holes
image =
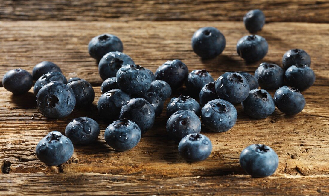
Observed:
[[[248,34],[242,21],[260,8],[266,25],[259,32],[269,44],[262,60],[282,64],[289,49],[312,57],[315,84],[303,95],[305,109],[286,116],[279,110],[264,120],[245,115],[225,133],[202,133],[213,143],[210,157],[185,162],[166,135],[165,111],[138,146],[116,152],[104,141],[104,123],[95,104],[101,95],[97,64],[89,40],[113,33],[137,64],[155,71],[166,60],[181,59],[189,70],[206,68],[217,78],[226,71],[253,73],[261,63],[246,64],[236,43]],[[0,1],[0,78],[10,69],[32,71],[43,60],[58,64],[69,78],[94,87],[94,106],[52,120],[38,113],[33,90],[12,96],[0,87],[1,195],[329,195],[329,1],[325,0],[116,0]],[[220,56],[201,60],[190,38],[195,30],[214,26],[226,37]],[[270,91],[273,95],[274,91]],[[168,102],[168,100],[166,101]],[[38,141],[52,130],[64,132],[73,118],[97,120],[101,134],[92,145],[74,146],[72,158],[45,166],[35,155]],[[267,178],[251,178],[240,167],[241,150],[253,143],[271,146],[279,167]]]

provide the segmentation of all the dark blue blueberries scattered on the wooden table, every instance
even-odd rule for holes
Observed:
[[[265,16],[260,10],[252,10],[243,21],[246,29],[255,33],[264,26]],[[203,59],[214,58],[224,50],[225,37],[214,27],[204,27],[193,34],[192,48]],[[270,116],[275,106],[285,114],[297,114],[305,106],[300,91],[315,81],[311,58],[301,49],[283,55],[283,68],[263,62],[254,76],[240,71],[227,72],[216,81],[205,69],[189,73],[188,67],[177,59],[165,62],[154,74],[122,53],[122,42],[112,34],[92,38],[88,50],[97,60],[99,75],[104,80],[98,112],[106,122],[112,122],[105,130],[105,141],[117,151],[135,147],[162,113],[164,101],[172,92],[179,93],[185,83],[187,94],[171,98],[167,104],[166,130],[179,143],[180,155],[189,162],[205,160],[212,151],[209,138],[200,134],[201,121],[211,131],[228,131],[237,121],[233,105],[237,103],[256,119]],[[256,34],[246,35],[237,43],[237,53],[247,62],[261,60],[267,51],[266,39]],[[94,100],[94,90],[88,81],[78,77],[67,81],[61,69],[48,61],[37,64],[32,75],[22,69],[7,72],[3,86],[21,95],[29,91],[34,80],[38,109],[48,118],[68,116],[74,108],[89,106]],[[274,99],[266,91],[273,89],[277,89]],[[200,103],[194,98],[199,98]],[[38,143],[36,154],[47,165],[59,165],[70,159],[73,144],[90,144],[99,134],[95,120],[76,118],[67,124],[66,137],[58,131],[50,132]],[[266,145],[253,144],[241,152],[240,164],[252,176],[269,176],[278,166],[278,156]]]

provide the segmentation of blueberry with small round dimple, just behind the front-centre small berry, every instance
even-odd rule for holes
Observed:
[[[172,114],[167,121],[167,133],[176,142],[191,133],[200,133],[201,121],[190,110],[179,110]]]

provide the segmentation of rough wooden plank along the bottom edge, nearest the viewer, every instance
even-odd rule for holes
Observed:
[[[244,175],[154,179],[109,174],[5,174],[3,195],[280,195],[329,194],[329,175],[250,178]]]

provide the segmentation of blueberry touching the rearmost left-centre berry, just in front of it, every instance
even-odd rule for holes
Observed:
[[[133,59],[127,54],[121,52],[109,52],[103,56],[98,63],[98,72],[103,80],[109,77],[115,77],[116,72],[123,65],[135,64]]]

